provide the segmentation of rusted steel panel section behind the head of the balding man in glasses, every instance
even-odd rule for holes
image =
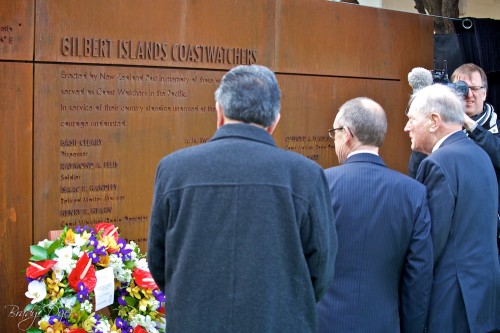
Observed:
[[[404,109],[398,110],[400,100],[384,97],[387,91],[398,90],[397,80],[368,81],[304,75],[278,75],[278,80],[283,98],[281,120],[274,132],[276,143],[284,149],[309,157],[324,168],[338,165],[328,129],[332,127],[339,107],[347,100],[359,96],[370,97],[379,101],[386,110],[397,110],[402,117],[405,116]],[[401,152],[409,147],[409,140],[401,138],[404,135],[402,120],[393,123],[388,115],[388,122],[391,126],[382,151],[386,163],[397,165],[398,160],[401,160]],[[394,151],[398,153],[391,154]],[[404,168],[406,164],[400,164],[400,167]]]

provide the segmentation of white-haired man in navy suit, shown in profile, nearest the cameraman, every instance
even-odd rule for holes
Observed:
[[[462,131],[464,105],[435,84],[410,100],[411,148],[429,155],[416,179],[427,187],[434,245],[428,332],[490,332],[500,313],[496,249],[498,187],[490,158]]]

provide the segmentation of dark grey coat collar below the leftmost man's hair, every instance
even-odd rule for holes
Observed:
[[[265,129],[244,123],[226,124],[221,126],[209,141],[228,138],[259,141],[268,145],[276,146],[273,137],[266,132]]]

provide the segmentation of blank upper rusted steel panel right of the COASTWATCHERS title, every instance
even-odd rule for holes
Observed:
[[[286,0],[278,7],[277,19],[278,72],[401,80],[412,66],[432,66],[431,18],[328,1]]]

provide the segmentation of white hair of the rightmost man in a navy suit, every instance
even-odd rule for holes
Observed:
[[[462,98],[444,84],[433,84],[419,90],[410,98],[409,105],[414,103],[424,116],[434,112],[439,114],[445,123],[464,123],[465,109]]]

